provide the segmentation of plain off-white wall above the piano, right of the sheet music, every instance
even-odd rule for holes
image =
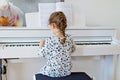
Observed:
[[[65,1],[72,3],[76,16],[85,14],[87,26],[120,26],[120,0]]]

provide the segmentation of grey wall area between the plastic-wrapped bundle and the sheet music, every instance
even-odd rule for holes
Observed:
[[[56,2],[59,0],[10,0],[14,5],[19,7],[23,12],[37,12],[38,11],[38,3],[45,2]]]

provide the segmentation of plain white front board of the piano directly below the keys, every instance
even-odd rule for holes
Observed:
[[[38,58],[38,46],[2,47],[0,58]],[[120,54],[120,47],[116,45],[76,45],[72,56],[99,56]]]

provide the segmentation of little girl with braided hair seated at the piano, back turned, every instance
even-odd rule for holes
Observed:
[[[53,36],[41,40],[39,55],[47,59],[40,69],[41,75],[63,77],[71,74],[71,53],[75,50],[73,39],[65,33],[67,20],[63,12],[54,12],[49,18]]]

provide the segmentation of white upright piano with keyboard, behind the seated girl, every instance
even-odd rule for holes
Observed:
[[[112,79],[105,78],[103,75],[102,80],[116,80],[116,63],[117,55],[120,54],[120,46],[115,40],[115,28],[85,27],[67,29],[67,33],[73,36],[76,43],[76,51],[72,54],[73,57],[113,56],[113,70],[111,70],[113,76],[110,77]],[[39,58],[37,54],[40,39],[47,38],[50,35],[49,29],[1,28],[0,58],[8,60]],[[105,69],[103,74],[106,73]]]

